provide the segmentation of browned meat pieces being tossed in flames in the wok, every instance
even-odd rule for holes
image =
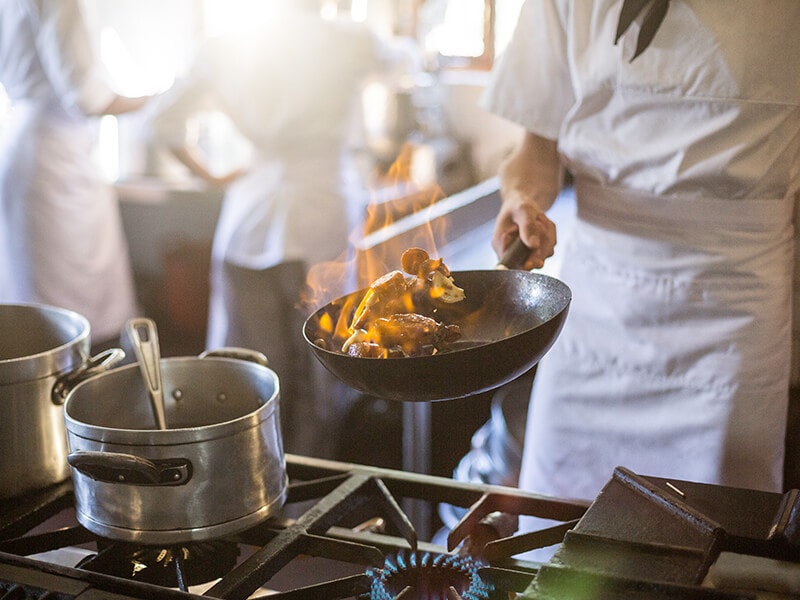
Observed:
[[[437,321],[441,303],[464,300],[441,258],[421,248],[401,257],[403,271],[391,271],[367,288],[353,313],[342,352],[362,358],[430,356],[461,337],[455,323]]]

